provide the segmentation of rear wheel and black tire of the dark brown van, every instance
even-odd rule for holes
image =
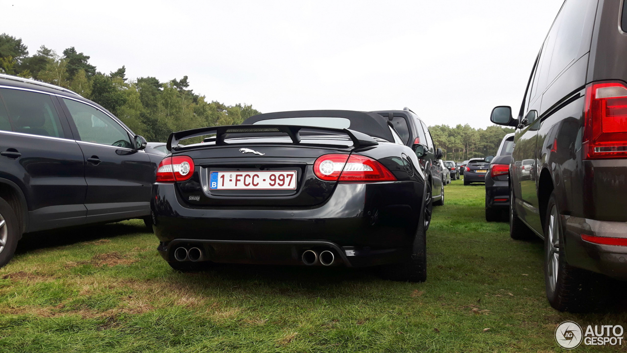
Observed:
[[[544,284],[551,307],[561,312],[601,310],[609,299],[611,280],[566,262],[559,205],[551,193],[544,222]]]

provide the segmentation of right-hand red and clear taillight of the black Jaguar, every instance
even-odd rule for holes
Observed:
[[[327,182],[393,182],[396,177],[372,158],[352,155],[324,155],[314,162],[314,174]]]

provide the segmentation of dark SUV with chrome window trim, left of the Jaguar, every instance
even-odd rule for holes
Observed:
[[[163,156],[145,145],[70,90],[0,75],[0,266],[26,232],[148,217]]]

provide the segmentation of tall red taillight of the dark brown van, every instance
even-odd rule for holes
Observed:
[[[584,160],[627,158],[627,87],[603,82],[586,87]]]

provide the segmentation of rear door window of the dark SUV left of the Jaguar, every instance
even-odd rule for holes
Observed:
[[[16,133],[65,138],[50,95],[17,89],[0,89],[0,95]]]

